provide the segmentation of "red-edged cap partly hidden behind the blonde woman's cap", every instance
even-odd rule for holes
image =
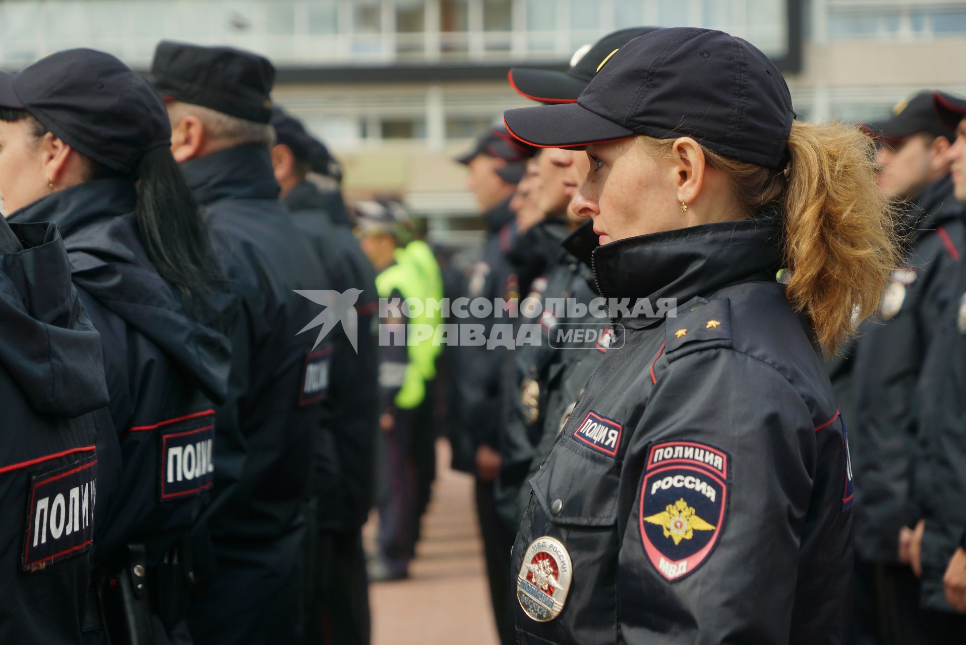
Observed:
[[[526,98],[542,103],[575,103],[583,88],[594,77],[598,66],[614,49],[657,29],[659,27],[618,29],[593,45],[583,45],[584,48],[589,48],[582,55],[578,55],[581,54],[580,51],[575,54],[574,58],[577,60],[572,61],[566,71],[511,68],[507,72],[507,78],[513,89]]]

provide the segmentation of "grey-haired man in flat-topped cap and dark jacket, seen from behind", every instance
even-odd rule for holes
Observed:
[[[332,285],[278,200],[270,62],[161,42],[151,76],[167,102],[171,150],[242,307],[218,408],[219,432],[240,431],[241,441],[215,442],[213,503],[194,541],[207,567],[196,566],[204,583],[188,626],[199,643],[297,642],[312,441],[327,423],[330,343],[344,333],[310,333],[320,306],[297,292]]]

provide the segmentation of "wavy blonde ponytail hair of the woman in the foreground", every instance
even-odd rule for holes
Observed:
[[[649,154],[671,139],[638,137]],[[739,210],[783,210],[788,301],[828,354],[875,313],[899,259],[895,210],[875,182],[874,146],[858,127],[793,122],[790,161],[775,171],[704,149],[731,180]]]

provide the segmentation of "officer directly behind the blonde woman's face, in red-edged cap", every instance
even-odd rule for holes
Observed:
[[[546,104],[576,101],[586,84],[593,78],[601,63],[614,49],[623,46],[631,39],[654,31],[654,27],[621,29],[608,34],[593,45],[584,45],[574,54],[570,68],[565,71],[514,68],[509,71],[510,84],[519,94]],[[584,308],[596,296],[590,267],[583,265],[572,253],[573,245],[583,242],[596,246],[596,238],[590,222],[584,222],[582,231],[575,231],[582,219],[570,210],[570,200],[585,179],[590,162],[583,151],[570,151],[559,148],[545,149],[535,157],[538,160],[537,172],[541,191],[537,199],[538,212],[545,213],[544,227],[554,227],[555,235],[547,244],[530,244],[536,249],[545,249],[543,271],[546,274],[543,294],[543,315],[540,318],[542,337],[539,345],[526,345],[514,351],[512,362],[515,369],[507,387],[508,396],[504,404],[507,415],[503,423],[504,440],[501,445],[502,463],[497,480],[497,509],[500,518],[508,527],[510,535],[515,535],[523,519],[528,500],[529,487],[526,481],[532,474],[532,464],[546,455],[549,445],[544,445],[543,454],[538,447],[544,439],[545,429],[552,429],[551,437],[556,436],[563,409],[576,398],[565,395],[561,398],[559,387],[571,379],[573,368],[586,361],[582,378],[590,376],[593,365],[607,351],[606,340],[593,342],[587,347],[567,345],[568,351],[557,351],[565,346],[556,336],[561,331],[576,328],[591,328],[598,332],[607,331],[606,321],[594,319],[589,310],[583,316],[575,317],[566,306],[555,310],[554,301],[568,298]],[[544,216],[544,215],[541,215]],[[519,222],[518,214],[518,222]],[[567,222],[564,227],[559,224]],[[534,227],[539,230],[540,225]],[[554,228],[546,228],[553,232]],[[566,238],[563,235],[566,234]],[[546,236],[545,236],[546,237]],[[539,253],[534,255],[539,256]],[[533,297],[531,293],[528,297]],[[582,323],[582,324],[581,324]],[[607,336],[610,338],[610,335]],[[550,383],[554,376],[553,385]],[[578,385],[583,387],[583,383]],[[553,398],[553,423],[548,423],[548,403]],[[566,399],[562,408],[560,402]],[[561,408],[561,409],[558,409]]]

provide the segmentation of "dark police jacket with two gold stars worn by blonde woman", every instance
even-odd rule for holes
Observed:
[[[601,294],[655,312],[676,298],[677,316],[619,317],[623,347],[530,480],[511,572],[521,643],[845,641],[846,437],[775,279],[780,238],[726,222],[594,252]]]

